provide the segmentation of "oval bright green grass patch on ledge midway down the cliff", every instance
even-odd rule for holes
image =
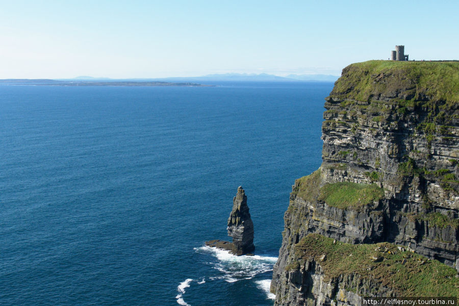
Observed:
[[[376,184],[339,182],[320,188],[319,200],[340,209],[358,209],[384,197],[384,189]]]

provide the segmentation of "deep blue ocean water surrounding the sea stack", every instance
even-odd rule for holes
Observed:
[[[272,305],[332,87],[0,86],[0,304]],[[203,247],[240,185],[251,258]]]

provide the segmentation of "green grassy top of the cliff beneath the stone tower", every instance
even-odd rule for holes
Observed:
[[[330,97],[459,103],[459,62],[367,61],[343,69]]]

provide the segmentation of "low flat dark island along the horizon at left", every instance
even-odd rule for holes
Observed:
[[[5,79],[0,85],[35,85],[35,86],[212,86],[197,83],[140,82],[140,81],[62,81],[52,79]]]

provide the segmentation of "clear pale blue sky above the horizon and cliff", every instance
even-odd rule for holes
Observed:
[[[459,59],[459,1],[4,1],[0,79],[333,74]]]

